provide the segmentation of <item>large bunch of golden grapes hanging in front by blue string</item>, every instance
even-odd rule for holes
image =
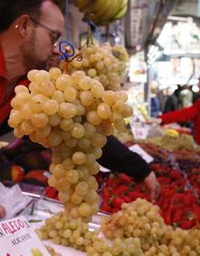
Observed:
[[[8,124],[15,137],[29,138],[52,149],[52,175],[48,179],[73,219],[90,221],[99,210],[99,171],[106,136],[114,127],[125,129],[132,115],[123,92],[105,91],[102,84],[75,71],[71,76],[59,68],[31,70],[29,89],[15,87]]]

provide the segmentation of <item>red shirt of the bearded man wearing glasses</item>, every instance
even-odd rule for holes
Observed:
[[[15,86],[18,84],[28,87],[29,81],[25,79],[25,77],[22,77],[21,79],[19,78],[14,87],[9,92],[6,92],[8,87],[8,80],[6,78],[5,56],[0,44],[0,126],[9,116],[11,111],[10,102],[11,99],[15,96]]]

